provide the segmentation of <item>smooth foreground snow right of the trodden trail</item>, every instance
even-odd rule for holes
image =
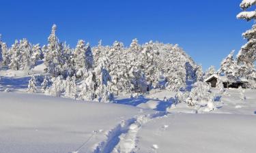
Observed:
[[[253,153],[255,126],[255,116],[248,115],[169,114],[143,125],[134,152]]]

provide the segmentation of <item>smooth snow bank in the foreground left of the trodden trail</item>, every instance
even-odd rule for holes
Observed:
[[[79,152],[94,152],[121,122],[153,113],[41,95],[0,92],[0,97],[0,149],[10,153],[73,152],[90,137]]]

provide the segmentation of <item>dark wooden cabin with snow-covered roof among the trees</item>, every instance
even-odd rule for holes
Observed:
[[[224,88],[238,88],[241,86],[242,88],[246,88],[248,84],[248,80],[245,78],[237,78],[236,80],[229,80],[225,75],[210,75],[204,82],[211,84],[213,88],[216,88],[216,84],[218,80],[222,80]]]

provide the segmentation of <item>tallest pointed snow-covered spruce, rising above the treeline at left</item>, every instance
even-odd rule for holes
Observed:
[[[44,65],[46,65],[47,71],[55,77],[61,75],[65,63],[63,59],[63,45],[59,43],[55,35],[56,29],[56,24],[53,24],[51,35],[48,37],[47,50],[44,54]]]

